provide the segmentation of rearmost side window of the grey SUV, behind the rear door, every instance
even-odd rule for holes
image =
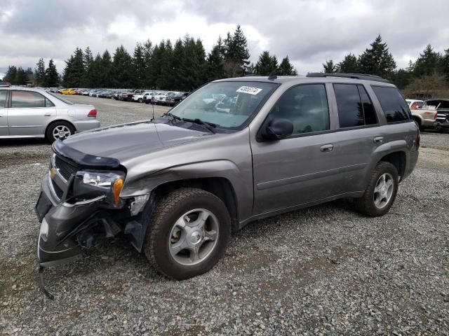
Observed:
[[[401,92],[396,87],[371,85],[384,110],[387,123],[411,120],[410,109]]]

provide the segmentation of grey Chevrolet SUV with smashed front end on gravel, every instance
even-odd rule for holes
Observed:
[[[55,141],[39,263],[122,232],[161,274],[187,279],[260,218],[344,197],[387,214],[419,145],[403,96],[376,76],[216,80],[161,118]]]

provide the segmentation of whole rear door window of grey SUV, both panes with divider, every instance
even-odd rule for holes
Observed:
[[[334,84],[340,127],[357,127],[377,123],[375,109],[363,85]]]

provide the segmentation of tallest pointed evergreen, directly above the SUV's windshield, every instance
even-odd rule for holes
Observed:
[[[227,33],[224,41],[225,50],[225,71],[228,77],[242,76],[246,73],[250,64],[250,52],[248,50],[248,41],[237,25],[234,35]]]

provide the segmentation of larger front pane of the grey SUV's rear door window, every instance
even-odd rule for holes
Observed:
[[[363,107],[355,84],[334,84],[340,127],[365,125]]]

